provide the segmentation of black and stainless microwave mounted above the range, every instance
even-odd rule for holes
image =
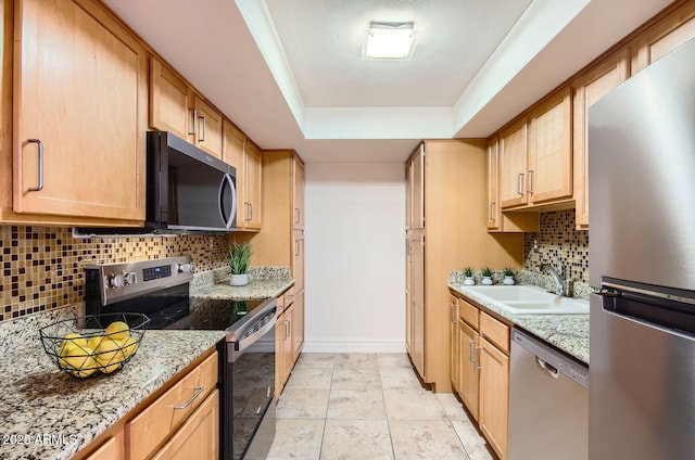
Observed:
[[[170,132],[147,135],[147,218],[138,228],[76,228],[75,235],[228,232],[237,220],[237,170]]]

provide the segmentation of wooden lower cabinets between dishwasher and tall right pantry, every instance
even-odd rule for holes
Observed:
[[[457,372],[452,373],[452,382],[458,382],[456,393],[492,449],[501,460],[506,460],[509,325],[466,299],[452,295],[452,305],[454,302],[457,307],[458,363],[452,366],[452,370]]]

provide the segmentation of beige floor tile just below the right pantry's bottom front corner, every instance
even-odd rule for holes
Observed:
[[[446,420],[440,400],[421,389],[384,389],[389,420]]]

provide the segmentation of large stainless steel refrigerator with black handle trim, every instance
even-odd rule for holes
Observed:
[[[591,460],[695,459],[695,40],[589,108]]]

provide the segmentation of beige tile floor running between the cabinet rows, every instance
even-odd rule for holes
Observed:
[[[421,387],[405,354],[303,354],[267,460],[492,460],[456,397]]]

